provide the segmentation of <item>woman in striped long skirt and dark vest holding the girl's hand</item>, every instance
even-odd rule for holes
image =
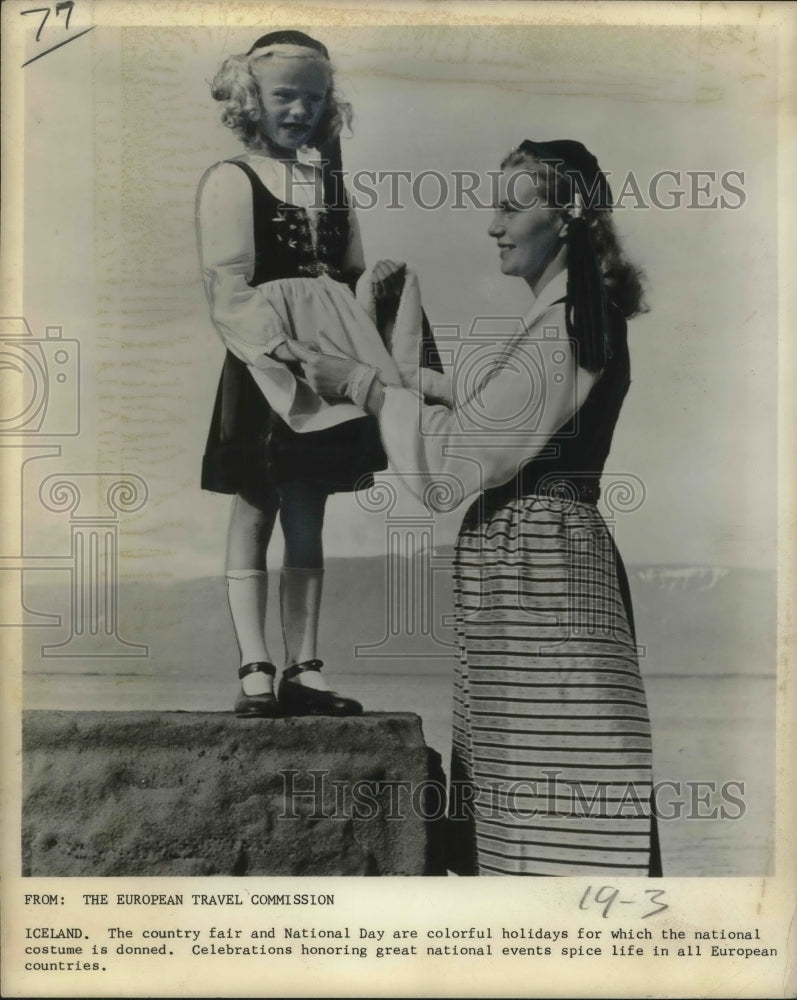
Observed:
[[[640,276],[584,146],[527,140],[501,166],[489,233],[503,273],[535,296],[523,328],[472,385],[447,392],[423,372],[426,403],[368,374],[366,408],[407,485],[429,499],[443,477],[478,494],[455,556],[450,867],[658,874],[627,579],[595,506]],[[355,362],[295,353],[319,392],[353,378]]]

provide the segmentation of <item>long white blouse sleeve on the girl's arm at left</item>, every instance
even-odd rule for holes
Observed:
[[[267,293],[252,288],[255,270],[252,188],[234,164],[211,167],[199,184],[197,243],[213,324],[225,345],[249,365],[266,359],[284,338],[283,322]]]

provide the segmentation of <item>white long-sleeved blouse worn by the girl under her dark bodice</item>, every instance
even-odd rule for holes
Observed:
[[[321,202],[321,171],[308,163],[285,164],[271,157],[250,154],[248,166],[282,202],[307,210],[315,238]],[[316,200],[318,199],[318,200]],[[239,167],[217,163],[199,184],[196,202],[197,243],[205,294],[213,324],[236,357],[255,368],[273,370],[279,364],[266,355],[284,339],[280,314],[268,296],[268,282],[249,285],[255,271],[252,186]],[[349,212],[349,243],[344,270],[363,270],[360,231]]]

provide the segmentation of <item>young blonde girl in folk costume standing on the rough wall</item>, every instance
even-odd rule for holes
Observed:
[[[360,488],[385,467],[377,425],[355,419],[296,433],[267,402],[300,374],[268,283],[363,270],[340,179],[338,134],[351,108],[337,98],[326,48],[299,31],[258,39],[230,56],[212,84],[222,121],[246,152],[211,167],[197,196],[198,242],[213,322],[227,347],[202,469],[203,489],[235,495],[227,545],[230,612],[241,654],[239,716],[352,715],[316,656],[323,580],[321,534],[330,492]],[[318,149],[319,169],[297,151]],[[295,331],[312,341],[315,331]],[[276,395],[275,395],[276,394]],[[266,550],[277,513],[285,536],[280,611],[285,670],[264,635]]]

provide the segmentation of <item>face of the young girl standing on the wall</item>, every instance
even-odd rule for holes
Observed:
[[[269,142],[295,153],[313,135],[327,104],[329,63],[312,54],[273,55],[256,60],[252,74],[260,89],[260,124]]]

